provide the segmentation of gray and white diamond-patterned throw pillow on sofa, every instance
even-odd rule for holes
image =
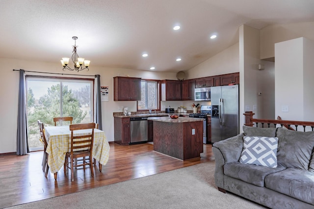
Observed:
[[[277,148],[277,137],[244,136],[239,162],[276,168]]]

